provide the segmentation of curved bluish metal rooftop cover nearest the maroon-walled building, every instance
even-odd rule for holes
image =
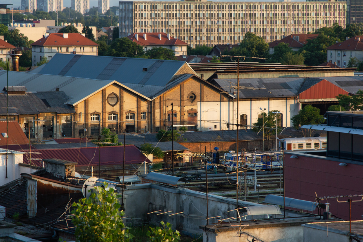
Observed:
[[[284,206],[284,197],[269,194],[265,197],[264,202],[269,203],[269,204],[276,204],[276,205]],[[285,197],[285,206],[289,207],[289,208],[297,208],[297,209],[302,209],[302,210],[315,211],[318,204],[316,202]]]

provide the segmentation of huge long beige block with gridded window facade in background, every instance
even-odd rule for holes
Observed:
[[[345,2],[119,1],[120,37],[163,32],[191,46],[237,44],[246,32],[267,42],[346,25]]]

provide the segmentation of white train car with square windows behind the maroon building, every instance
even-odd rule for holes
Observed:
[[[299,149],[326,149],[326,137],[303,137],[281,139],[280,149],[296,151]]]

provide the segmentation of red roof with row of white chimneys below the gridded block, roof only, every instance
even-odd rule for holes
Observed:
[[[136,40],[135,34],[138,34],[138,40]],[[146,40],[144,34],[146,34]],[[159,34],[161,34],[161,40]],[[171,36],[169,40],[166,33],[133,33],[127,38],[139,45],[188,45],[184,41]]]

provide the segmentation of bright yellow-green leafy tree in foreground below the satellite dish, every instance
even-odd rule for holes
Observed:
[[[104,183],[107,188],[107,183]],[[89,198],[82,198],[79,202],[73,203],[74,215],[72,222],[76,226],[75,236],[77,242],[128,242],[133,237],[129,228],[125,227],[119,211],[120,195],[99,186],[94,187],[94,192]]]

